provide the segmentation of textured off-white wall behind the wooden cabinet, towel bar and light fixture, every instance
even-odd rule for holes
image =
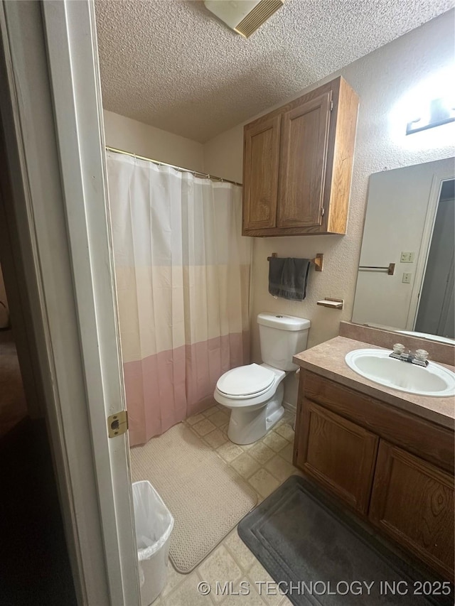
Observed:
[[[426,92],[431,99],[437,87],[434,83],[427,85],[425,82],[442,68],[453,65],[454,11],[449,11],[294,96],[299,97],[338,75],[342,75],[360,96],[348,233],[346,236],[255,238],[253,318],[261,311],[309,318],[312,323],[309,347],[336,336],[340,320],[350,320],[368,178],[378,171],[454,154],[454,123],[405,136],[406,122],[415,116],[415,109],[407,97],[411,94],[412,99],[422,99]],[[414,92],[416,87],[420,90]],[[288,100],[283,99],[283,103]],[[205,144],[205,170],[224,178],[242,180],[242,153],[240,124]],[[279,256],[301,257],[323,252],[323,271],[317,274],[311,271],[305,301],[297,303],[269,295],[267,256],[272,252]],[[316,301],[326,296],[343,298],[345,308],[338,311],[316,305]],[[259,335],[254,321],[252,352],[258,361]]]

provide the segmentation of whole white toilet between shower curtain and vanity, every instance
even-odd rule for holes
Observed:
[[[292,356],[306,349],[310,321],[292,315],[259,313],[262,364],[228,370],[218,379],[213,396],[231,409],[228,438],[251,444],[274,426],[284,413],[283,379],[298,367]]]

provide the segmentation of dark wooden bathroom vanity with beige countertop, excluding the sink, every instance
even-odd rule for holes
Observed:
[[[363,347],[375,346],[336,337],[294,357],[294,465],[453,581],[454,398],[360,377],[345,356]]]

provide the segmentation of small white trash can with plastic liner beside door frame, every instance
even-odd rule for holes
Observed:
[[[133,482],[134,524],[141,606],[149,606],[166,585],[173,516],[150,482]]]

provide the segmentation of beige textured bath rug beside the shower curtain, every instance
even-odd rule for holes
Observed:
[[[169,556],[179,573],[196,568],[257,502],[245,480],[183,423],[132,448],[131,464],[133,481],[149,480],[174,516]]]

